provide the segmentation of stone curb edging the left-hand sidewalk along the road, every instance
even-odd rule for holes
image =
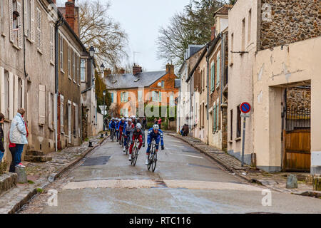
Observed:
[[[84,157],[86,157],[86,155],[88,155],[88,153],[90,153],[91,151],[95,150],[96,147],[99,147],[103,144],[103,142],[105,142],[105,140],[109,137],[109,135],[106,138],[103,138],[103,140],[101,140],[101,142],[99,142],[98,145],[91,147],[90,149],[87,149],[85,152],[83,152],[80,157],[78,157],[76,160],[73,160],[72,162],[69,162],[68,165],[61,167],[60,170],[58,170],[58,172],[52,173],[49,177],[48,177],[48,181],[45,182],[43,185],[38,186],[36,188],[34,188],[33,190],[31,190],[28,194],[26,194],[24,196],[23,199],[21,199],[18,203],[14,204],[14,207],[12,207],[12,209],[10,209],[8,212],[6,212],[7,214],[14,214],[17,211],[19,211],[19,209],[21,209],[21,207],[24,206],[24,204],[26,204],[27,202],[29,202],[29,200],[34,197],[34,195],[38,194],[38,189],[44,189],[45,187],[47,187],[48,185],[51,184],[51,182],[54,182],[54,180],[56,180],[58,177],[61,177],[61,175],[63,175],[64,172],[66,172],[67,170],[71,169],[71,167],[73,167],[74,165],[76,165],[78,162],[80,162],[81,160],[83,160]]]

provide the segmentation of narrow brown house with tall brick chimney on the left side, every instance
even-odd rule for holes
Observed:
[[[82,142],[81,58],[88,58],[78,38],[75,3],[69,0],[61,11],[63,24],[58,27],[58,149]]]

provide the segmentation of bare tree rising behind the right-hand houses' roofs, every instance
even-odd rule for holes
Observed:
[[[226,0],[191,0],[181,13],[175,14],[167,27],[159,30],[156,41],[158,58],[180,66],[189,44],[205,45],[210,41],[213,14]]]

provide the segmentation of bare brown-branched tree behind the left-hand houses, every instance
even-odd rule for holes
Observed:
[[[100,0],[78,1],[80,34],[86,48],[93,46],[99,63],[113,67],[127,56],[128,36],[120,24],[108,15],[110,4]]]

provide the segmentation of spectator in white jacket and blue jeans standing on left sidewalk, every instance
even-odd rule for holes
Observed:
[[[21,164],[21,154],[24,151],[24,145],[28,144],[24,113],[26,113],[26,111],[23,108],[19,108],[18,113],[16,113],[16,116],[11,122],[10,142],[16,144],[16,156],[14,157],[15,167],[25,167]]]

